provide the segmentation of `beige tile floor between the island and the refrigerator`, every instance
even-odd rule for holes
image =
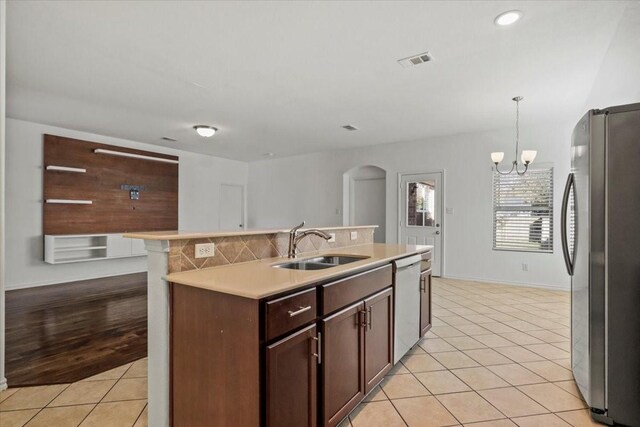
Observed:
[[[568,292],[434,279],[433,328],[339,427],[588,427]]]

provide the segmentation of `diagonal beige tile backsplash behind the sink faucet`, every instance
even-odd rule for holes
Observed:
[[[300,241],[298,253],[304,254],[373,243],[374,230],[374,228],[323,229],[327,233],[335,233],[336,241],[328,243],[319,236],[310,235]],[[358,232],[357,239],[351,240],[351,231]],[[196,258],[195,245],[198,243],[214,243],[215,255]],[[169,243],[169,273],[287,256],[288,247],[289,234],[287,233],[171,240]]]

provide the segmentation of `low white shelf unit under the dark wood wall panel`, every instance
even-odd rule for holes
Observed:
[[[44,236],[44,261],[49,264],[146,256],[144,242],[122,234],[65,234]]]

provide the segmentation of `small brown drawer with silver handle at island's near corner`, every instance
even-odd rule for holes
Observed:
[[[271,340],[316,318],[316,288],[265,304],[265,337]]]

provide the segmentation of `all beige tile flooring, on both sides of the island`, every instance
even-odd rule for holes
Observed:
[[[571,374],[569,294],[433,281],[433,328],[340,427],[596,426]],[[147,361],[0,393],[0,427],[147,425]]]

